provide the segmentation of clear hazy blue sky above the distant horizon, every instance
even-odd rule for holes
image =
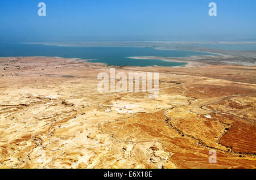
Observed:
[[[38,3],[47,16],[38,16]],[[209,16],[208,4],[217,4]],[[255,0],[1,0],[0,42],[256,40]]]

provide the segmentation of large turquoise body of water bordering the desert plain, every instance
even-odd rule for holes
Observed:
[[[34,44],[0,44],[0,57],[46,56],[94,59],[89,62],[101,62],[113,66],[184,66],[187,63],[167,62],[159,59],[131,59],[128,57],[191,57],[192,55],[213,54],[134,47],[65,47]]]

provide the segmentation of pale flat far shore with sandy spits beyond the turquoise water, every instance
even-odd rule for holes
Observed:
[[[192,57],[153,57],[153,56],[135,56],[131,55],[134,59],[160,59],[169,62],[186,62],[186,66],[199,66],[199,65],[242,65],[242,66],[255,66],[256,51],[246,50],[221,50],[209,49],[202,45],[256,45],[254,41],[246,42],[211,42],[211,41],[86,41],[86,42],[32,42],[24,44],[38,44],[38,45],[51,45],[51,46],[65,46],[65,47],[134,47],[134,48],[154,48],[158,50],[180,50],[191,51],[200,53],[210,53],[211,56],[192,56]],[[216,54],[216,55],[214,55]],[[147,58],[146,58],[147,57]]]

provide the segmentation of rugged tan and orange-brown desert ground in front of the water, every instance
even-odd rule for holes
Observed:
[[[256,67],[116,68],[160,72],[155,99],[98,92],[99,64],[0,58],[0,69],[0,168],[256,166]]]

